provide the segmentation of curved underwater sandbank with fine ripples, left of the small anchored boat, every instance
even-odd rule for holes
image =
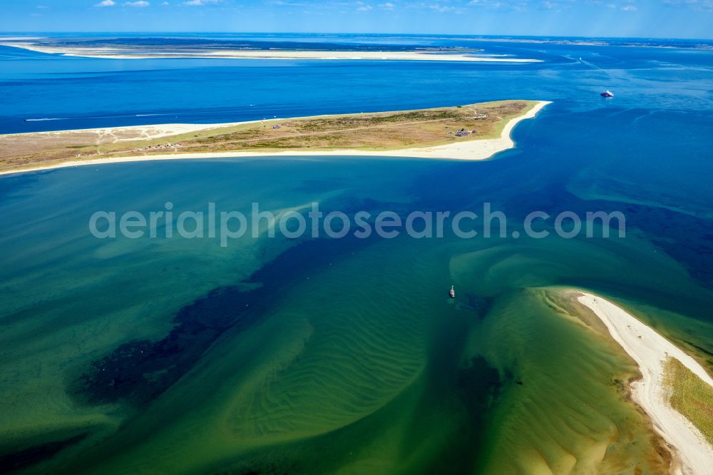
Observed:
[[[343,427],[383,407],[419,376],[428,314],[414,311],[421,307],[410,298],[415,292],[385,295],[406,285],[408,272],[356,276],[374,268],[349,262],[312,279],[309,288],[320,289],[319,297],[294,292],[285,302],[309,315],[314,333],[290,364],[265,375],[259,390],[234,405],[230,425],[238,437],[291,439]],[[348,286],[354,278],[360,285]],[[271,318],[289,325],[294,317],[284,311]]]

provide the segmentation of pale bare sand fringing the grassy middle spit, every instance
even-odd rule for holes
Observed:
[[[287,150],[284,152],[220,152],[220,153],[165,153],[160,155],[138,155],[130,157],[108,157],[96,158],[91,160],[67,160],[51,165],[39,165],[23,168],[21,170],[3,170],[0,175],[8,175],[11,173],[24,173],[29,171],[48,170],[52,168],[66,168],[80,165],[100,165],[103,163],[124,163],[124,162],[139,162],[150,160],[178,160],[189,158],[242,158],[242,157],[310,157],[310,156],[329,156],[329,155],[359,155],[367,157],[394,157],[394,158],[435,158],[441,160],[485,160],[494,154],[513,148],[515,143],[511,138],[513,128],[520,122],[528,118],[533,118],[547,106],[550,102],[538,101],[533,108],[522,116],[511,119],[499,138],[488,138],[481,140],[462,141],[458,143],[450,143],[447,145],[436,145],[427,148],[404,148],[399,150]],[[255,121],[250,121],[253,123]],[[220,124],[163,124],[157,126],[131,126],[103,129],[86,129],[87,131],[101,131],[111,135],[118,131],[135,131],[137,135],[145,136],[145,138],[155,138],[162,136],[170,136],[176,133],[185,133],[188,131],[203,131],[210,128],[218,128],[225,126],[235,126],[248,122],[236,123],[220,123]],[[47,132],[53,134],[61,134],[76,131],[57,131]]]

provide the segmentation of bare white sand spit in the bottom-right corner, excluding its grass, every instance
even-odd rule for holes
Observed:
[[[632,397],[652,419],[655,429],[674,449],[678,474],[713,474],[713,448],[688,419],[667,402],[664,362],[667,356],[678,359],[694,374],[713,386],[713,379],[688,354],[644,325],[625,310],[584,293],[578,300],[589,307],[607,326],[612,337],[639,365],[642,379],[632,383]]]

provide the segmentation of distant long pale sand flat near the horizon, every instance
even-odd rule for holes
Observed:
[[[470,54],[443,54],[428,51],[289,51],[289,50],[196,50],[196,51],[127,51],[120,48],[82,48],[64,46],[37,46],[32,43],[0,43],[30,51],[83,58],[146,59],[146,58],[235,58],[235,59],[323,59],[370,61],[469,61],[479,63],[539,63],[539,59],[472,56]]]

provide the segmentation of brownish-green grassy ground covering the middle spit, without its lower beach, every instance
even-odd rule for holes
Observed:
[[[289,150],[404,150],[499,138],[536,101],[270,119],[153,136],[145,129],[64,131],[0,136],[0,170],[164,153],[284,152]],[[475,132],[474,132],[475,131]],[[458,135],[456,135],[458,133]]]

